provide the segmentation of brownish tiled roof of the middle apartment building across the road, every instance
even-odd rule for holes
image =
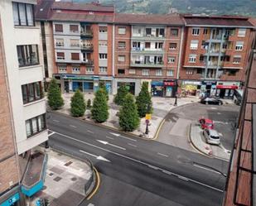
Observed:
[[[115,13],[114,22],[122,24],[184,25],[179,14]]]

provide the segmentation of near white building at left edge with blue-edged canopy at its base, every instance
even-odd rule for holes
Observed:
[[[0,2],[0,205],[24,205],[43,186],[47,141],[36,0]]]

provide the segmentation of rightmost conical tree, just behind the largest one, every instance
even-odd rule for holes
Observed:
[[[147,82],[143,82],[142,89],[136,98],[136,104],[139,117],[145,117],[146,113],[152,113],[152,101]]]

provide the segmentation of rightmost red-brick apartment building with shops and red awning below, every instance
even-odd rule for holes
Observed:
[[[248,17],[185,15],[181,91],[233,98],[244,85],[254,26]],[[180,92],[181,92],[180,91]]]

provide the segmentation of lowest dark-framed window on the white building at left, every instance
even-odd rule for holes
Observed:
[[[46,114],[41,114],[26,121],[27,137],[32,137],[36,133],[46,129]]]

